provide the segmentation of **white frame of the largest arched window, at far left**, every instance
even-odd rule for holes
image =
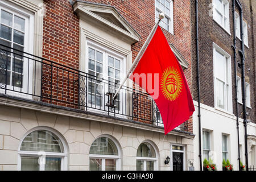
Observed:
[[[67,142],[65,142],[63,136],[61,136],[59,133],[57,133],[55,130],[49,128],[49,127],[44,127],[44,126],[40,126],[40,127],[35,127],[32,130],[27,131],[26,134],[24,134],[23,138],[20,140],[20,144],[19,144],[19,149],[18,149],[18,171],[21,170],[21,158],[22,156],[31,156],[31,157],[38,157],[39,160],[43,159],[44,156],[42,155],[42,152],[39,151],[22,151],[20,150],[20,147],[22,145],[23,140],[27,137],[28,134],[37,131],[37,130],[45,130],[45,131],[50,131],[51,133],[55,134],[59,139],[60,142],[63,144],[63,152],[59,153],[59,152],[45,152],[46,156],[45,157],[53,157],[53,158],[61,158],[61,166],[60,166],[60,170],[61,171],[67,171],[68,170],[68,145]],[[45,158],[44,158],[45,160]],[[40,171],[44,171],[44,165],[40,164]]]

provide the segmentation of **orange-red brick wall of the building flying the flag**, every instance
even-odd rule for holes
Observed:
[[[155,0],[92,0],[89,2],[114,6],[141,35],[141,40],[131,46],[134,60],[144,41],[147,39],[148,34],[154,27]],[[46,0],[44,3],[46,4],[47,11],[43,29],[43,57],[56,63],[79,69],[79,19],[73,13],[72,6],[68,0]],[[163,30],[163,32],[168,42],[174,44],[189,63],[189,67],[184,73],[187,77],[189,88],[192,89],[190,31],[190,1],[174,1],[174,35],[166,30]],[[47,74],[47,70],[44,71]],[[55,87],[54,96],[55,98],[57,96],[63,97],[62,90],[58,92],[56,90],[57,82],[59,81],[55,81],[55,85],[53,85]],[[66,83],[66,86],[68,85]],[[46,84],[45,88],[48,90],[48,93],[51,91],[49,84]],[[64,97],[68,97],[68,94],[76,97],[75,93],[72,93],[73,91],[68,91],[67,87],[64,89]],[[77,88],[75,92],[76,90]],[[68,100],[69,98],[66,99]],[[49,102],[49,98],[47,97],[44,101]],[[54,102],[54,104],[76,107],[75,105],[65,104],[63,102]],[[147,110],[151,112],[149,107]],[[148,118],[148,113],[145,117]],[[189,119],[188,128],[192,132],[192,117]]]

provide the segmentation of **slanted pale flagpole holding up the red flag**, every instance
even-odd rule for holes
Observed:
[[[123,84],[125,84],[125,81],[127,80],[127,78],[129,77],[131,71],[133,71],[133,69],[136,67],[136,65],[139,62],[139,58],[141,57],[142,52],[144,51],[144,49],[148,46],[148,43],[150,42],[152,35],[155,33],[156,28],[158,27],[158,24],[160,23],[160,21],[164,18],[164,13],[160,13],[159,14],[159,20],[158,22],[155,23],[155,26],[153,27],[153,29],[150,32],[150,35],[148,36],[148,38],[146,39],[145,43],[143,44],[141,51],[139,51],[137,57],[135,58],[135,60],[133,61],[133,64],[131,65],[131,68],[129,69],[129,71],[126,74],[126,77],[123,78],[119,88],[117,89],[117,92],[114,94],[113,100],[115,100],[115,97],[117,97],[118,92],[121,90]]]

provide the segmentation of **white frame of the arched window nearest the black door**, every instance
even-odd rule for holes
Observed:
[[[156,147],[155,147],[155,144],[152,143],[150,140],[145,140],[144,142],[142,143],[148,143],[151,145],[151,147],[154,149],[155,151],[155,158],[144,158],[144,157],[138,157],[136,156],[136,164],[137,164],[137,160],[141,160],[143,161],[143,171],[147,171],[147,161],[153,161],[154,162],[154,171],[158,171],[158,150],[156,150]],[[141,144],[142,144],[141,143]],[[141,145],[139,144],[139,145]],[[137,151],[138,151],[138,148],[137,148]]]

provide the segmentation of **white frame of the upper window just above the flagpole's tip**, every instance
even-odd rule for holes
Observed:
[[[161,0],[159,0],[159,1],[161,2]],[[172,1],[172,0],[166,0],[166,1],[170,2],[170,15],[167,15],[164,12],[164,17],[166,17],[169,20],[169,27],[168,27],[169,30],[167,30],[167,31],[170,32],[172,35],[174,35],[174,1]],[[156,11],[160,11],[161,13],[163,13],[162,10],[160,10],[158,7],[156,7],[156,0],[155,0],[155,23],[158,22],[158,20],[159,20],[159,18],[156,17]],[[164,28],[164,30],[166,30],[166,29]]]

